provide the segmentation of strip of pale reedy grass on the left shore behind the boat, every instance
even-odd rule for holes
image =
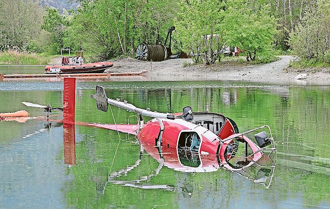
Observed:
[[[52,56],[9,50],[0,52],[0,65],[47,65]]]

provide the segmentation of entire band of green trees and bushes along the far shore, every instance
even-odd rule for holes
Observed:
[[[305,63],[327,63],[329,5],[328,0],[82,0],[77,10],[59,12],[32,0],[4,0],[0,50],[83,49],[89,61],[104,61],[132,56],[140,43],[164,43],[175,26],[172,51],[192,52],[196,63],[220,61],[217,52],[224,46],[238,47],[253,63],[272,62],[281,52]]]

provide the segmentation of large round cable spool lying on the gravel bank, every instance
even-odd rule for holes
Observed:
[[[141,61],[160,62],[167,59],[168,53],[164,45],[139,44],[136,51],[136,58]]]

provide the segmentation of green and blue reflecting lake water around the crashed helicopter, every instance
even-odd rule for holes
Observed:
[[[183,173],[162,167],[152,176],[159,163],[146,152],[138,166],[118,177],[150,176],[146,181],[135,187],[107,182],[109,173],[139,159],[135,137],[121,133],[119,139],[116,131],[93,127],[63,128],[56,121],[61,112],[51,113],[50,125],[42,110],[21,102],[62,106],[63,82],[6,81],[0,82],[0,112],[25,109],[41,117],[0,122],[0,208],[330,208],[330,86],[78,81],[76,121],[114,123],[112,114],[98,111],[88,96],[96,84],[110,98],[153,111],[191,106],[223,113],[240,132],[269,125],[277,148],[271,187],[225,169]],[[129,117],[133,113],[112,110],[116,123],[136,123]],[[69,138],[63,139],[63,129]]]

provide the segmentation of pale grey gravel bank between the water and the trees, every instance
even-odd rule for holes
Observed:
[[[191,59],[168,59],[163,62],[144,62],[134,58],[114,61],[109,72],[140,72],[149,80],[246,80],[246,81],[281,81],[294,80],[301,73],[307,73],[307,81],[330,81],[329,69],[313,72],[313,69],[289,69],[289,63],[296,57],[283,55],[279,60],[263,65],[239,64],[235,59],[206,66],[193,65]],[[191,64],[184,67],[184,64]]]

